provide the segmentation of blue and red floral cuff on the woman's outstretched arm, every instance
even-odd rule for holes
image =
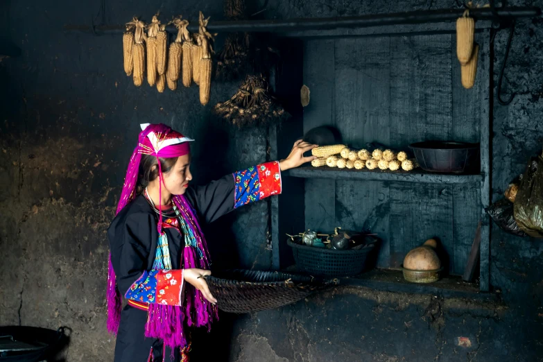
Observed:
[[[279,162],[266,162],[234,173],[234,209],[281,193]]]

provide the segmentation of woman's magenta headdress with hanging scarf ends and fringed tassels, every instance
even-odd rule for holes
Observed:
[[[190,152],[189,142],[193,141],[184,137],[179,132],[170,127],[160,124],[145,123],[141,125],[138,145],[136,146],[130,164],[126,171],[126,178],[123,184],[121,199],[117,206],[116,214],[128,205],[135,198],[137,177],[139,173],[139,163],[141,155],[155,155],[157,157],[169,158],[187,155]],[[158,160],[158,178],[159,193],[162,200],[162,166]],[[196,214],[189,202],[184,196],[174,196],[174,204],[178,207],[181,217],[186,221],[187,227],[195,235],[194,247],[198,248],[196,253],[192,246],[185,246],[183,250],[183,259],[180,264],[184,268],[209,268],[209,253],[205,238],[198,225]],[[159,222],[157,225],[159,234],[162,234],[162,208],[159,202]],[[110,333],[117,333],[121,321],[121,295],[117,288],[115,273],[111,264],[111,255],[109,258],[108,278],[107,278],[107,330]],[[202,298],[200,291],[185,293],[184,311],[180,307],[164,306],[151,304],[149,307],[149,318],[146,325],[146,336],[164,339],[164,343],[170,347],[184,347],[185,338],[182,333],[183,320],[187,325],[210,326],[210,323],[216,318],[216,308]],[[164,318],[167,316],[167,318]],[[164,319],[167,319],[164,322]]]

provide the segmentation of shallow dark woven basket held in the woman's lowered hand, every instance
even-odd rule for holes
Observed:
[[[337,284],[305,275],[258,270],[224,270],[205,277],[217,306],[230,313],[250,313],[298,302]]]

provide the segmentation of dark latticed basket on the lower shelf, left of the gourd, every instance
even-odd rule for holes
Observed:
[[[364,270],[368,252],[373,244],[359,250],[333,250],[300,245],[291,240],[286,241],[292,248],[296,268],[309,275],[320,277],[352,277]]]

